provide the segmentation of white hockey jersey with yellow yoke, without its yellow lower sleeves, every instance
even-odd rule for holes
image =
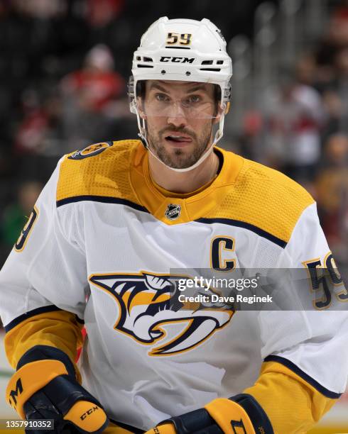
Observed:
[[[215,152],[223,159],[219,175],[187,195],[153,184],[138,140],[63,157],[0,274],[6,332],[45,311],[75,313],[87,330],[84,386],[110,418],[139,429],[244,391],[265,360],[329,398],[346,387],[348,315],[330,311],[332,299],[348,298],[337,274],[334,294],[312,279],[318,311],[168,305],[171,269],[222,276],[228,269],[333,268],[302,187]]]

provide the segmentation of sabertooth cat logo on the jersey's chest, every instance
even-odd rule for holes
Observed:
[[[178,301],[178,279],[169,274],[92,274],[89,282],[111,294],[118,307],[114,329],[142,345],[148,355],[175,355],[192,349],[231,320],[229,308],[188,307]],[[181,309],[184,308],[185,309]]]

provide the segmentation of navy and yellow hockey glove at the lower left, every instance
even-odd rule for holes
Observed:
[[[69,357],[55,347],[36,345],[21,357],[6,398],[31,423],[53,420],[54,429],[28,430],[31,434],[99,434],[109,424],[97,399],[76,381]]]

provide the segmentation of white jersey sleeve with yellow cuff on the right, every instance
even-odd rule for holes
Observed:
[[[315,204],[300,216],[279,265],[313,268],[305,289],[313,308],[260,312],[263,365],[259,379],[245,393],[259,401],[275,432],[307,432],[345,391],[348,375],[347,291],[337,270],[325,277],[316,274],[333,269],[335,261]],[[330,278],[334,282],[327,286],[334,291],[329,295],[324,279]]]

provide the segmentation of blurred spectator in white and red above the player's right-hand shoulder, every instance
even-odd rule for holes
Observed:
[[[320,94],[294,79],[266,95],[266,154],[273,165],[304,183],[320,159],[323,108]]]

